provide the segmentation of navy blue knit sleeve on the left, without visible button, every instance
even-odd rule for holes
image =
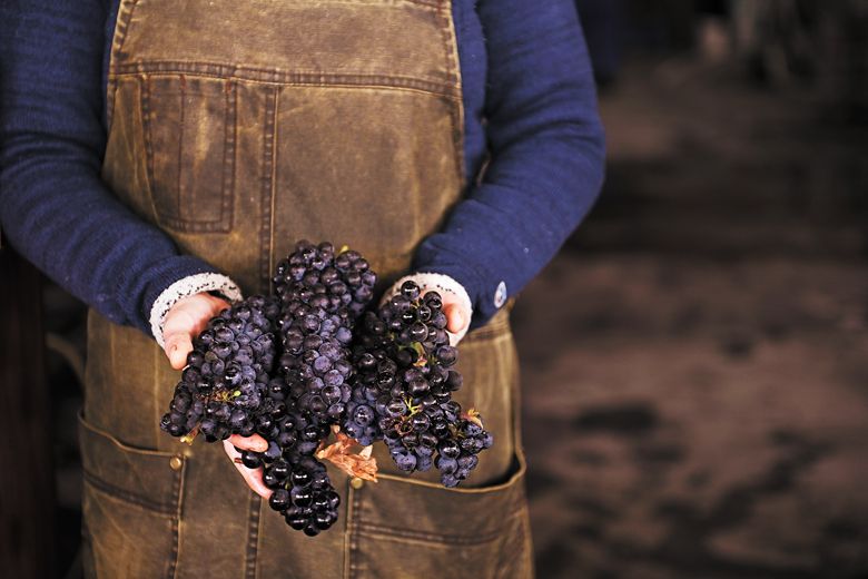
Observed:
[[[0,225],[9,243],[117,323],[214,268],[121,205],[100,179],[103,0],[0,4]]]

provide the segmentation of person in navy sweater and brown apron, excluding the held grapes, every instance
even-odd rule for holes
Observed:
[[[91,306],[87,573],[532,576],[509,303],[603,176],[572,1],[12,0],[0,27],[0,224]],[[383,449],[375,484],[331,470],[314,539],[159,429],[191,337],[300,238],[446,296],[495,438],[456,489]]]

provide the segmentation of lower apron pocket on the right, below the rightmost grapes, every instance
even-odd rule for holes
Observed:
[[[505,482],[475,489],[381,475],[354,491],[349,577],[533,576],[521,453]]]

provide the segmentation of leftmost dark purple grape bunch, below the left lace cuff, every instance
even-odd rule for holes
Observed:
[[[255,295],[211,318],[194,340],[160,428],[172,436],[200,431],[209,442],[262,432],[278,315],[276,300]]]

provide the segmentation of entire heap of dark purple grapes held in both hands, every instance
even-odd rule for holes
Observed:
[[[194,340],[162,430],[208,442],[262,435],[267,450],[240,461],[263,468],[272,509],[308,536],[337,520],[339,497],[316,459],[335,426],[365,446],[385,441],[402,470],[434,465],[446,487],[467,478],[492,436],[452,400],[462,376],[440,295],[407,282],[367,311],[376,274],[364,257],[304,241],[273,282],[274,295],[233,305]]]

